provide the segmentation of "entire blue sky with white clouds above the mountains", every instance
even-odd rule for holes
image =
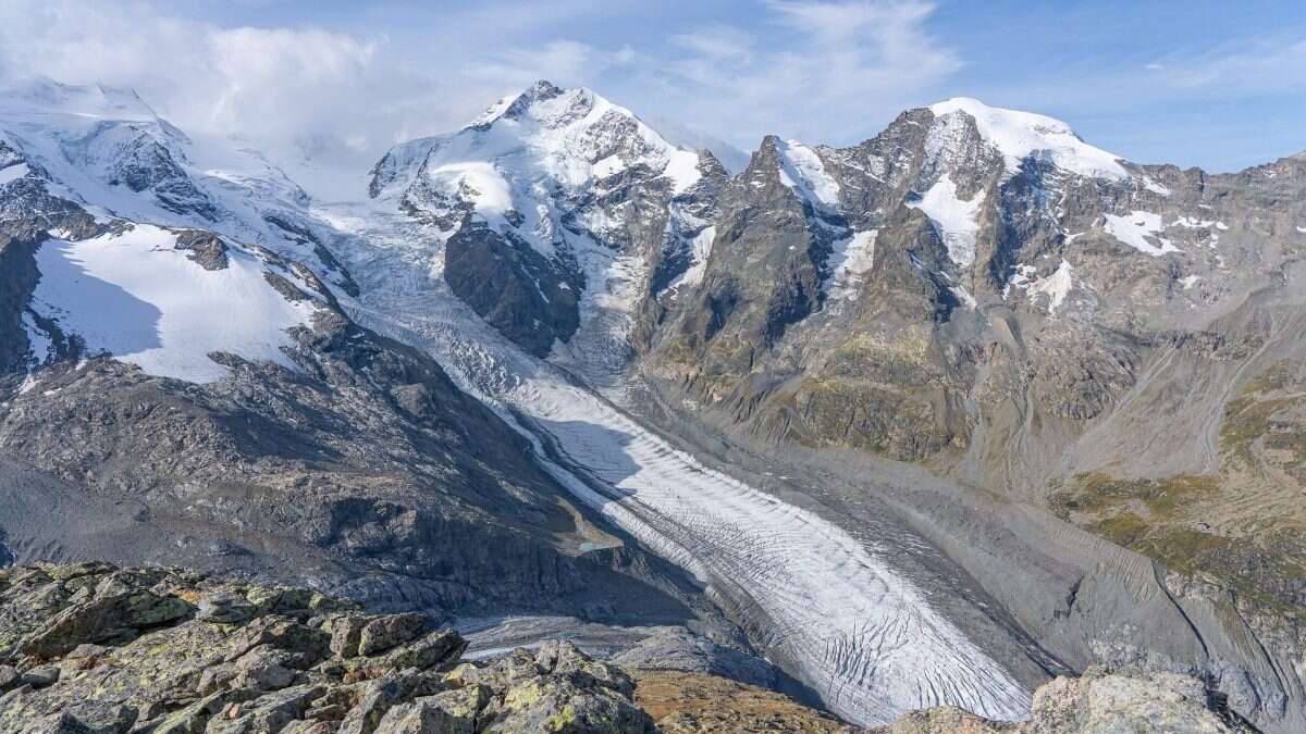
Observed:
[[[347,149],[454,129],[537,78],[751,150],[953,95],[1139,162],[1306,149],[1306,3],[4,0],[0,76],[135,88],[185,129]]]

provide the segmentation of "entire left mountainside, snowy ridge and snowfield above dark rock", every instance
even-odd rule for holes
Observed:
[[[185,559],[392,607],[707,609],[430,357],[346,316],[357,286],[277,171],[201,171],[101,89],[9,98],[0,136],[7,558]]]

